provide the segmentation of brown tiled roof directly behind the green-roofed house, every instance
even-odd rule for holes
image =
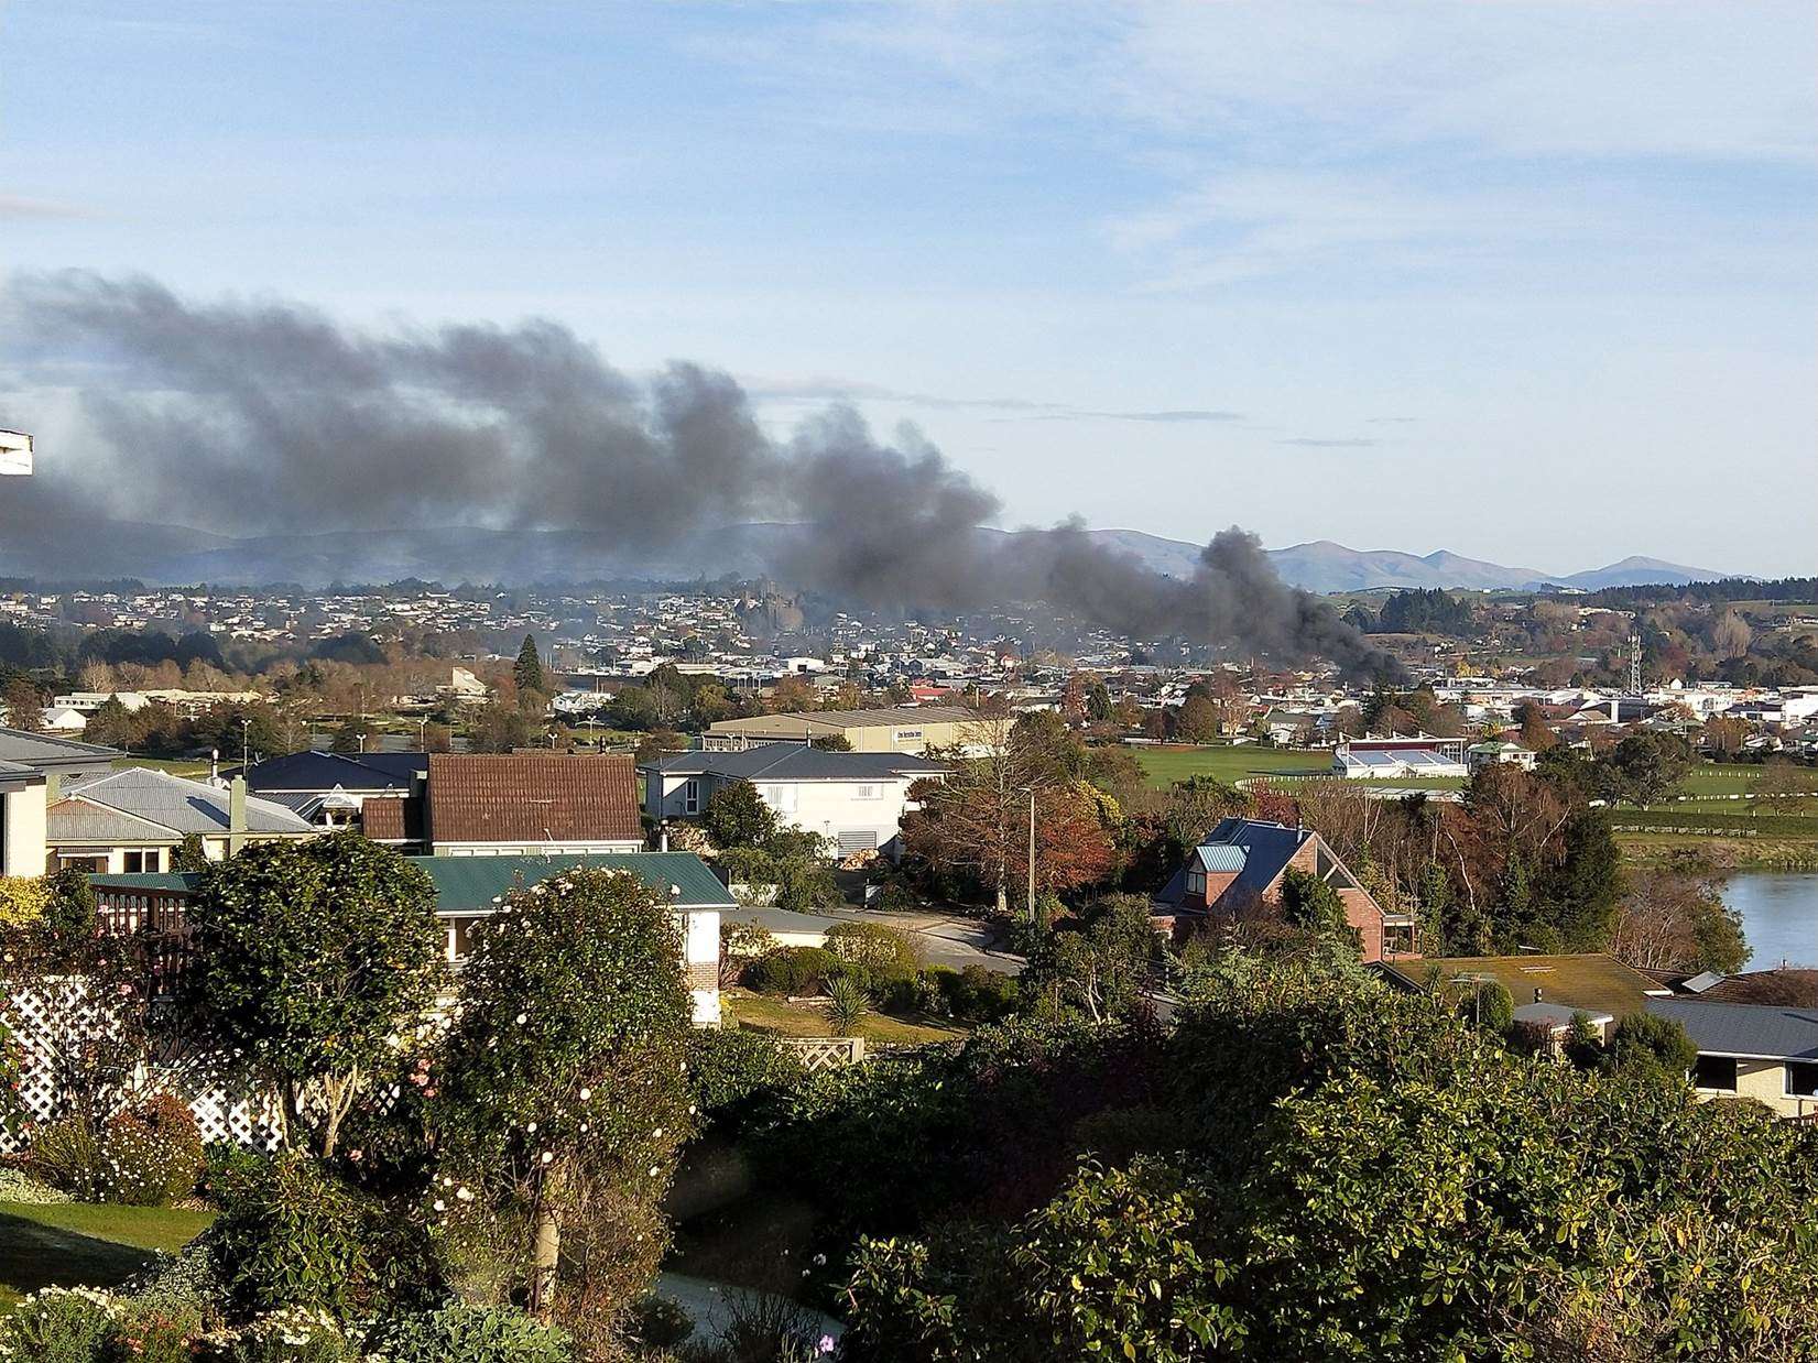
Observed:
[[[636,760],[429,754],[427,836],[436,843],[636,841]]]

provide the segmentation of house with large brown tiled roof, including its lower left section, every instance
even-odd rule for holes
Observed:
[[[402,798],[360,805],[367,838],[436,856],[558,856],[644,847],[629,754],[431,752]]]

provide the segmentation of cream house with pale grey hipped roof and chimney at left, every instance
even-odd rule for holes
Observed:
[[[45,858],[40,869],[95,872],[167,871],[171,854],[195,834],[202,852],[220,861],[244,845],[320,832],[295,811],[247,796],[245,781],[227,789],[149,767],[64,781],[45,809]]]

